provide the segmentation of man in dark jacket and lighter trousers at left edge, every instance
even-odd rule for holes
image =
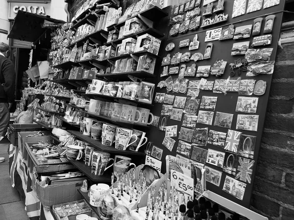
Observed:
[[[10,108],[15,99],[15,72],[13,63],[7,59],[10,47],[0,43],[0,141],[3,139],[10,121]],[[4,157],[0,157],[0,162]]]

